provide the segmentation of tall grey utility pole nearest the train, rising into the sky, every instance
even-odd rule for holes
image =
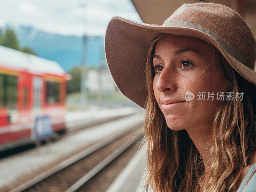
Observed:
[[[81,8],[84,8],[86,5],[80,5]],[[85,25],[85,15],[83,17],[83,24]],[[87,68],[86,68],[86,45],[87,45],[87,35],[86,35],[86,26],[83,31],[83,39],[82,39],[82,67],[81,67],[81,108],[87,107],[87,84],[86,84],[86,74],[87,74]]]

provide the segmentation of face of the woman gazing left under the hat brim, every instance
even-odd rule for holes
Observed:
[[[217,92],[226,95],[229,82],[220,69],[214,69],[207,48],[212,47],[189,36],[167,35],[156,42],[154,95],[172,130],[209,128],[217,107],[224,102],[217,100]],[[195,95],[193,100],[186,100],[187,91]],[[198,92],[205,92],[205,98],[197,100]],[[208,92],[209,96],[215,94],[213,100],[208,99]],[[179,103],[168,104],[171,102]]]

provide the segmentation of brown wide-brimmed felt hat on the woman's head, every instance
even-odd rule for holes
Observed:
[[[113,17],[105,36],[108,68],[118,89],[140,107],[144,108],[148,95],[148,49],[164,33],[193,36],[212,44],[241,76],[256,84],[254,36],[244,19],[225,5],[182,4],[162,26]]]

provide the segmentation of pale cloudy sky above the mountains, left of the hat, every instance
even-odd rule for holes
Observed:
[[[104,36],[119,16],[142,22],[131,0],[0,0],[0,26],[33,26],[61,35]]]

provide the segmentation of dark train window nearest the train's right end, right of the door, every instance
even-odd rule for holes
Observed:
[[[60,102],[60,83],[46,81],[46,102],[50,104]]]

